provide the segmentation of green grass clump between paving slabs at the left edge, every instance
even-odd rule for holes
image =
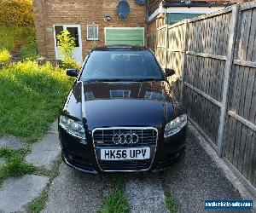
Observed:
[[[6,163],[0,168],[0,183],[9,177],[32,174],[36,170],[35,166],[27,164],[24,159],[28,152],[28,149],[12,150],[7,147],[0,148],[0,157],[7,159]]]

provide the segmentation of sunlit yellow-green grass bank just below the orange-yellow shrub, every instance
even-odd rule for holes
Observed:
[[[0,49],[11,51],[15,48],[15,43],[24,40],[26,33],[30,31],[31,28],[28,27],[0,25]]]

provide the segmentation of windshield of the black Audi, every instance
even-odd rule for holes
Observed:
[[[81,75],[82,81],[163,80],[160,66],[148,50],[93,51]]]

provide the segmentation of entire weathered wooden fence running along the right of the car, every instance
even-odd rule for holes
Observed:
[[[155,53],[191,122],[256,187],[256,2],[158,28]]]

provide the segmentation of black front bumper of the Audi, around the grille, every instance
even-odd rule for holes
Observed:
[[[59,135],[62,149],[62,159],[70,167],[85,173],[107,173],[101,170],[96,160],[95,148],[92,139],[87,140],[87,144],[68,135],[61,127]],[[150,163],[148,170],[122,170],[113,172],[142,172],[153,171],[157,172],[176,164],[184,158],[186,127],[179,131],[176,135],[169,138],[164,138],[163,133],[159,131],[157,147],[155,149],[153,161]],[[125,147],[124,147],[125,148]],[[108,173],[111,171],[108,171]]]

